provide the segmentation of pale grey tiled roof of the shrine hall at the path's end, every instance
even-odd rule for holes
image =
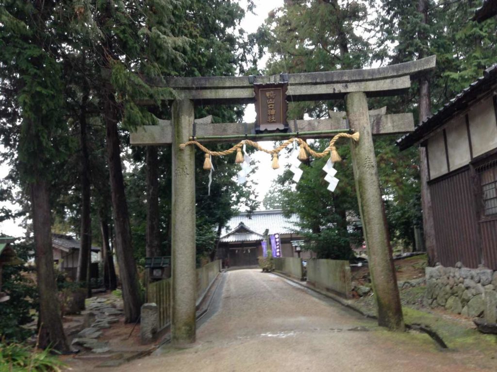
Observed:
[[[241,213],[228,222],[228,228],[224,229],[221,234],[221,241],[247,242],[262,240],[266,229],[269,230],[270,235],[294,233],[295,230],[299,229],[297,226],[298,221],[299,218],[297,215],[293,215],[290,218],[284,217],[281,209],[255,211],[251,215],[248,213]],[[240,226],[241,223],[243,223],[243,226]],[[236,233],[240,228],[246,230],[243,230],[241,233]]]

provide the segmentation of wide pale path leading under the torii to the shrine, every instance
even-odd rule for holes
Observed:
[[[227,275],[219,311],[191,348],[100,371],[496,371],[495,360],[441,352],[426,335],[396,334],[260,270]],[[76,371],[76,370],[73,370]]]

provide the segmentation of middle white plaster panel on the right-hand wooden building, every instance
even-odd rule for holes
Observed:
[[[449,166],[453,171],[467,165],[471,160],[466,117],[460,116],[450,120],[445,132],[447,133]]]

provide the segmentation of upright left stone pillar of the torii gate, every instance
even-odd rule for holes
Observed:
[[[172,343],[195,342],[195,149],[188,141],[194,120],[193,102],[172,104]]]

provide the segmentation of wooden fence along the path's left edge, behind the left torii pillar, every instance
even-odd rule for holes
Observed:
[[[197,269],[197,303],[207,291],[211,283],[221,271],[221,260],[212,261]],[[154,302],[159,309],[159,329],[162,330],[171,322],[172,313],[172,279],[163,279],[149,283],[147,302]]]

